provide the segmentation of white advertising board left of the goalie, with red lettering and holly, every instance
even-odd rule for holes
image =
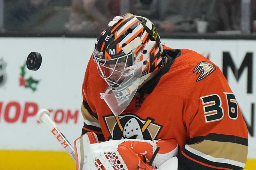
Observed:
[[[0,87],[0,149],[62,151],[46,125],[36,120],[41,108],[51,111],[73,144],[82,132],[82,83],[93,48],[94,39],[0,39],[0,60],[6,63],[6,80]],[[42,55],[37,71],[22,68],[31,51]],[[26,88],[28,83],[34,89]]]

